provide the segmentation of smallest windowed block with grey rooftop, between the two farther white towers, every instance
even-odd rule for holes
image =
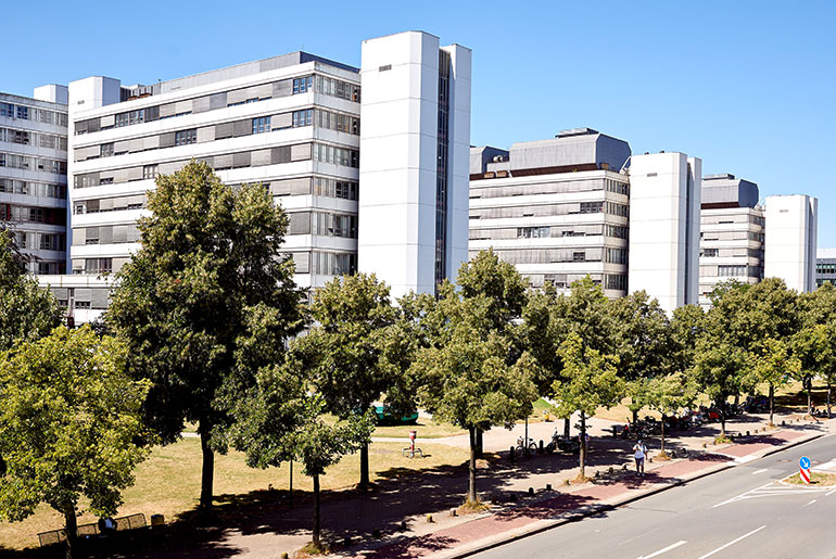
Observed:
[[[734,175],[702,177],[699,303],[709,306],[721,281],[763,279],[764,218],[758,185]]]

